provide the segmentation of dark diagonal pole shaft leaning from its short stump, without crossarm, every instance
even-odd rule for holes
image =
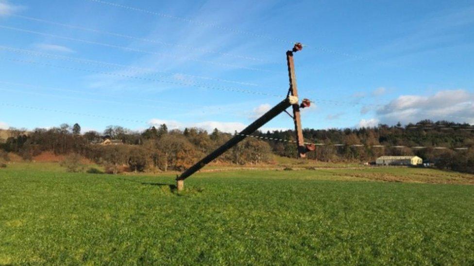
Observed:
[[[254,121],[254,123],[250,124],[247,126],[244,130],[240,131],[240,133],[236,134],[232,139],[229,141],[225,142],[222,146],[217,148],[215,151],[210,153],[208,156],[205,156],[203,159],[201,159],[199,162],[191,166],[189,169],[187,169],[185,172],[183,172],[180,176],[176,178],[177,184],[178,184],[178,189],[180,186],[183,186],[182,182],[185,180],[187,177],[192,175],[193,173],[199,171],[201,168],[203,168],[206,164],[210,163],[220,155],[222,155],[224,152],[229,150],[230,148],[234,147],[238,142],[244,140],[246,138],[246,135],[250,135],[254,133],[258,128],[260,128],[262,125],[265,125],[267,122],[269,122],[271,119],[273,119],[275,116],[279,115],[283,111],[285,111],[288,107],[291,105],[298,105],[298,98],[289,95],[286,99],[281,101],[279,104],[277,104],[275,107],[273,107],[271,110],[266,112],[264,115],[262,115],[260,118]]]

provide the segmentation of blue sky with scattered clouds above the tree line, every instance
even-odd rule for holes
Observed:
[[[304,127],[474,124],[472,0],[0,0],[0,128],[241,130],[295,42]]]

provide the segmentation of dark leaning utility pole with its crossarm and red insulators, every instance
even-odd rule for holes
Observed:
[[[305,157],[305,153],[307,151],[314,150],[315,148],[314,145],[305,146],[305,141],[303,139],[303,130],[301,127],[301,117],[300,117],[300,107],[301,108],[309,107],[311,103],[308,99],[304,99],[301,106],[298,105],[298,89],[296,86],[296,75],[295,75],[295,69],[294,69],[294,63],[293,63],[293,53],[300,51],[302,48],[303,48],[303,45],[301,45],[300,43],[297,43],[295,44],[292,50],[287,52],[289,86],[290,86],[287,97],[283,101],[281,101],[279,104],[277,104],[275,107],[273,107],[271,110],[269,110],[264,115],[262,115],[260,118],[255,120],[254,123],[250,124],[244,130],[240,131],[239,134],[236,134],[232,139],[225,142],[222,146],[217,148],[215,151],[205,156],[203,159],[201,159],[199,162],[191,166],[181,175],[177,176],[176,188],[178,190],[182,190],[184,188],[184,180],[187,177],[199,171],[206,164],[210,163],[211,161],[216,159],[218,156],[222,155],[224,152],[226,152],[230,148],[237,145],[238,142],[244,140],[248,135],[254,133],[258,128],[260,128],[262,125],[265,125],[275,116],[279,115],[280,113],[284,111],[286,112],[286,109],[290,106],[293,106],[293,116],[291,115],[290,116],[293,118],[293,121],[295,124],[296,140],[298,142],[298,157],[303,158]]]

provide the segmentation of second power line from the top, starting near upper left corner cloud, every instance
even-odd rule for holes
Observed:
[[[253,61],[257,61],[257,62],[268,63],[268,62],[265,62],[263,59],[250,57],[250,56],[243,56],[243,55],[237,55],[237,54],[232,54],[232,53],[220,52],[220,51],[211,50],[211,49],[204,49],[204,48],[192,47],[192,46],[187,46],[187,45],[182,45],[182,44],[163,42],[163,41],[158,41],[158,40],[149,39],[149,38],[140,38],[140,37],[136,37],[136,36],[126,35],[126,34],[121,34],[121,33],[116,33],[116,32],[111,32],[111,31],[102,31],[102,30],[90,29],[90,28],[85,28],[85,27],[76,26],[76,25],[70,25],[70,24],[64,24],[64,23],[49,21],[49,20],[36,18],[36,17],[31,17],[31,16],[22,16],[22,15],[15,15],[15,14],[12,14],[11,16],[16,16],[16,17],[19,17],[19,18],[28,19],[28,20],[32,20],[32,21],[43,22],[43,23],[47,23],[47,24],[51,24],[51,25],[67,27],[67,28],[71,28],[71,29],[78,29],[78,30],[101,33],[101,34],[106,34],[106,35],[110,35],[110,36],[116,36],[116,37],[131,39],[131,40],[155,43],[155,44],[160,44],[160,45],[169,46],[169,47],[181,47],[181,48],[186,48],[186,49],[190,49],[190,50],[194,50],[194,51],[200,51],[200,52],[205,52],[205,53],[214,53],[214,54],[219,54],[219,55],[223,55],[223,56],[242,58],[242,59],[246,59],[246,60],[253,60]]]

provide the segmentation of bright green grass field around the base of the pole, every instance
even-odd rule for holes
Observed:
[[[0,265],[474,264],[473,175],[203,172],[180,193],[172,178],[0,169]]]

